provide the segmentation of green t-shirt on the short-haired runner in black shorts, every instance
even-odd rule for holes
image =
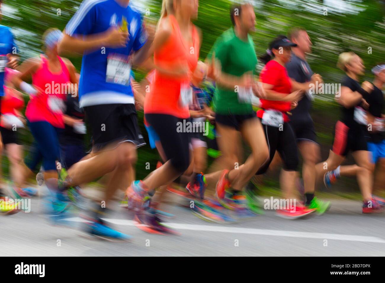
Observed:
[[[233,28],[229,28],[215,42],[210,54],[221,62],[222,72],[241,77],[246,72],[255,73],[258,63],[254,50],[254,42],[250,35],[248,41],[239,39]],[[214,111],[218,114],[250,114],[251,103],[238,101],[235,89],[227,89],[217,85],[214,93]]]

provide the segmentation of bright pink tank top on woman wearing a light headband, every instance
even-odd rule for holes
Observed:
[[[64,128],[63,112],[66,94],[70,88],[70,75],[67,66],[58,56],[61,70],[52,73],[48,68],[48,61],[40,55],[42,65],[32,75],[32,84],[39,92],[31,96],[25,109],[25,117],[30,122],[49,122],[52,126]]]

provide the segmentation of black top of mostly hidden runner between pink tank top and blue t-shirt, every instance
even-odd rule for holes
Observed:
[[[75,119],[84,119],[84,111],[79,107],[79,100],[77,96],[72,97],[71,94],[68,94],[65,105],[66,110],[64,114]],[[84,144],[84,134],[76,133],[73,127],[65,124],[64,131],[61,131],[59,136],[59,141],[61,145]]]

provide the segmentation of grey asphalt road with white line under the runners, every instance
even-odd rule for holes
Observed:
[[[3,256],[385,256],[385,213],[363,215],[357,201],[332,200],[321,216],[288,220],[266,211],[232,224],[208,223],[165,204],[162,208],[175,214],[165,222],[180,236],[147,234],[134,226],[127,209],[116,206],[106,220],[133,237],[124,243],[50,225],[44,203],[32,198],[30,213],[0,216]],[[68,220],[78,225],[79,219]]]

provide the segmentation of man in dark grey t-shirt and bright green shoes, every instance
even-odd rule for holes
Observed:
[[[291,84],[295,89],[301,89],[305,95],[298,101],[297,107],[291,111],[290,125],[296,136],[298,149],[303,158],[302,178],[305,187],[305,205],[317,209],[322,214],[330,208],[330,201],[324,202],[315,198],[315,165],[321,159],[320,146],[317,143],[313,119],[310,116],[313,98],[312,89],[323,84],[318,74],[313,74],[306,53],[311,52],[311,40],[303,28],[293,28],[289,31],[289,39],[297,44],[292,48],[291,60],[286,64]]]

